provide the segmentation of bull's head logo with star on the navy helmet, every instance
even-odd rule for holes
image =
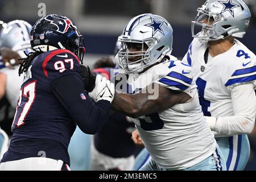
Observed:
[[[62,34],[64,34],[65,32],[68,31],[68,28],[72,25],[73,23],[71,22],[71,20],[69,19],[63,19],[61,17],[57,17],[57,16],[52,16],[52,15],[48,15],[45,18],[46,20],[48,20],[49,22],[51,22],[51,24],[54,24],[57,27],[57,32],[60,32]]]

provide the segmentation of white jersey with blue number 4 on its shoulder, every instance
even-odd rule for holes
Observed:
[[[191,65],[199,89],[200,104],[204,115],[229,117],[234,115],[231,91],[234,86],[254,83],[256,56],[238,40],[234,46],[205,64],[207,44],[194,39],[183,61]],[[218,137],[226,137],[221,134]]]

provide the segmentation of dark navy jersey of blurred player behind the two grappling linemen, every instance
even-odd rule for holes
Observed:
[[[118,73],[118,68],[97,68],[92,72],[100,73],[110,80]],[[94,146],[102,154],[113,158],[127,158],[137,149],[131,139],[134,130],[134,123],[130,119],[121,113],[114,113],[109,115],[108,121],[94,135]]]

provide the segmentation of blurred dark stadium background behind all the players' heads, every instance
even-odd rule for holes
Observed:
[[[85,38],[84,64],[90,65],[102,56],[113,55],[115,42],[133,16],[154,13],[166,18],[174,29],[172,55],[180,59],[192,40],[191,20],[205,0],[0,0],[0,19],[9,22],[23,19],[34,24],[40,17],[39,3],[46,5],[46,14],[61,14],[72,19]],[[256,53],[256,1],[245,0],[252,18],[245,38],[241,39]],[[256,135],[250,134],[251,157],[246,169],[256,170]]]

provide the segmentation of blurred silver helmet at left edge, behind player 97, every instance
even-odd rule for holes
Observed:
[[[0,46],[13,49],[13,51],[18,52],[19,54],[26,49],[32,51],[30,46],[31,28],[31,24],[24,20],[13,20],[7,23],[0,33]]]

